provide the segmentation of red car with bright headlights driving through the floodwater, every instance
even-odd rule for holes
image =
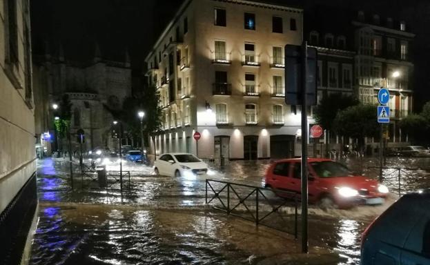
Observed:
[[[308,159],[309,202],[348,208],[355,204],[383,204],[387,186],[353,175],[346,166],[330,159]],[[266,187],[300,193],[301,159],[275,161],[266,172]],[[282,192],[278,192],[282,196]],[[285,194],[285,193],[284,193]]]

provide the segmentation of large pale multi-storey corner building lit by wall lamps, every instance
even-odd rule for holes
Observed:
[[[302,43],[302,24],[297,8],[186,1],[146,57],[163,107],[156,152],[300,155],[300,113],[284,104],[284,46]],[[202,135],[198,145],[195,132]]]

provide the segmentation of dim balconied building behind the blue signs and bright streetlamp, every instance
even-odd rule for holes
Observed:
[[[358,11],[351,24],[355,34],[355,77],[360,100],[378,103],[378,90],[389,89],[390,145],[408,141],[398,121],[411,113],[413,63],[411,43],[415,35],[405,21]]]

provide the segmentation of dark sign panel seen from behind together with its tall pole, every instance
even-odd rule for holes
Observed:
[[[302,106],[302,253],[308,253],[308,117],[307,106],[317,104],[317,50],[285,46],[285,103]]]

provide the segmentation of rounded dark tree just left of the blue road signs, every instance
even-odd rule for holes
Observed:
[[[338,112],[333,121],[333,130],[343,137],[358,140],[358,147],[364,151],[364,137],[376,137],[380,126],[376,119],[377,107],[359,104]]]

